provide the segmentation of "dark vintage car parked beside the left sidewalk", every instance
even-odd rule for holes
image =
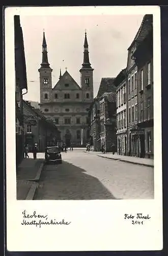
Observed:
[[[47,146],[45,150],[45,162],[62,163],[61,149],[58,146]]]

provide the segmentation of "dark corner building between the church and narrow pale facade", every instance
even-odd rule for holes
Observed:
[[[117,146],[116,137],[116,92],[104,93],[100,104],[100,141],[105,152],[112,152]]]

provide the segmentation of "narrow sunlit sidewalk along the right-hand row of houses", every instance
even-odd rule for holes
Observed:
[[[99,157],[104,157],[104,158],[113,159],[113,160],[119,160],[119,161],[123,161],[123,162],[127,162],[127,163],[133,163],[133,164],[154,167],[154,160],[149,159],[149,158],[121,156],[121,155],[117,155],[116,153],[115,153],[115,155],[113,155],[113,153],[102,154],[101,152],[95,152],[95,151],[90,151],[90,152],[86,152],[86,153],[88,153],[88,154],[91,153],[91,154],[95,154]]]

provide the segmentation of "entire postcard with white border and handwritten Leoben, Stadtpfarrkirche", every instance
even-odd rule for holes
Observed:
[[[5,28],[9,250],[160,249],[160,9],[7,8]]]

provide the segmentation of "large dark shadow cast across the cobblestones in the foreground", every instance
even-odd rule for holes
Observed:
[[[45,165],[34,200],[117,199],[86,170],[63,161]]]

